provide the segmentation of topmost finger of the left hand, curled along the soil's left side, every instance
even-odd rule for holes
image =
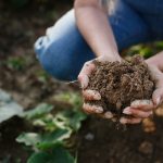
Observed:
[[[78,75],[78,80],[82,84],[82,88],[85,89],[88,86],[89,83],[89,75],[91,74],[91,72],[95,70],[95,64],[89,61],[86,62]]]

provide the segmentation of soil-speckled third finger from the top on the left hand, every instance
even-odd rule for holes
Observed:
[[[102,106],[90,105],[89,103],[84,103],[83,110],[89,114],[101,114],[103,112]]]

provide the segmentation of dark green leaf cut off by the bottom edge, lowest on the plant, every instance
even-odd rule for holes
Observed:
[[[75,160],[62,146],[55,146],[50,152],[34,153],[27,163],[75,163]]]

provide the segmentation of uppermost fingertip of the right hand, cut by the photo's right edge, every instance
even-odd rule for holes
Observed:
[[[163,102],[163,88],[158,88],[154,90],[152,100],[155,106],[159,106]]]

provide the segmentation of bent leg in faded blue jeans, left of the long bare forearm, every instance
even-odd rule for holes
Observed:
[[[95,58],[77,29],[74,10],[36,41],[35,50],[43,68],[63,80],[76,79],[83,64]]]

